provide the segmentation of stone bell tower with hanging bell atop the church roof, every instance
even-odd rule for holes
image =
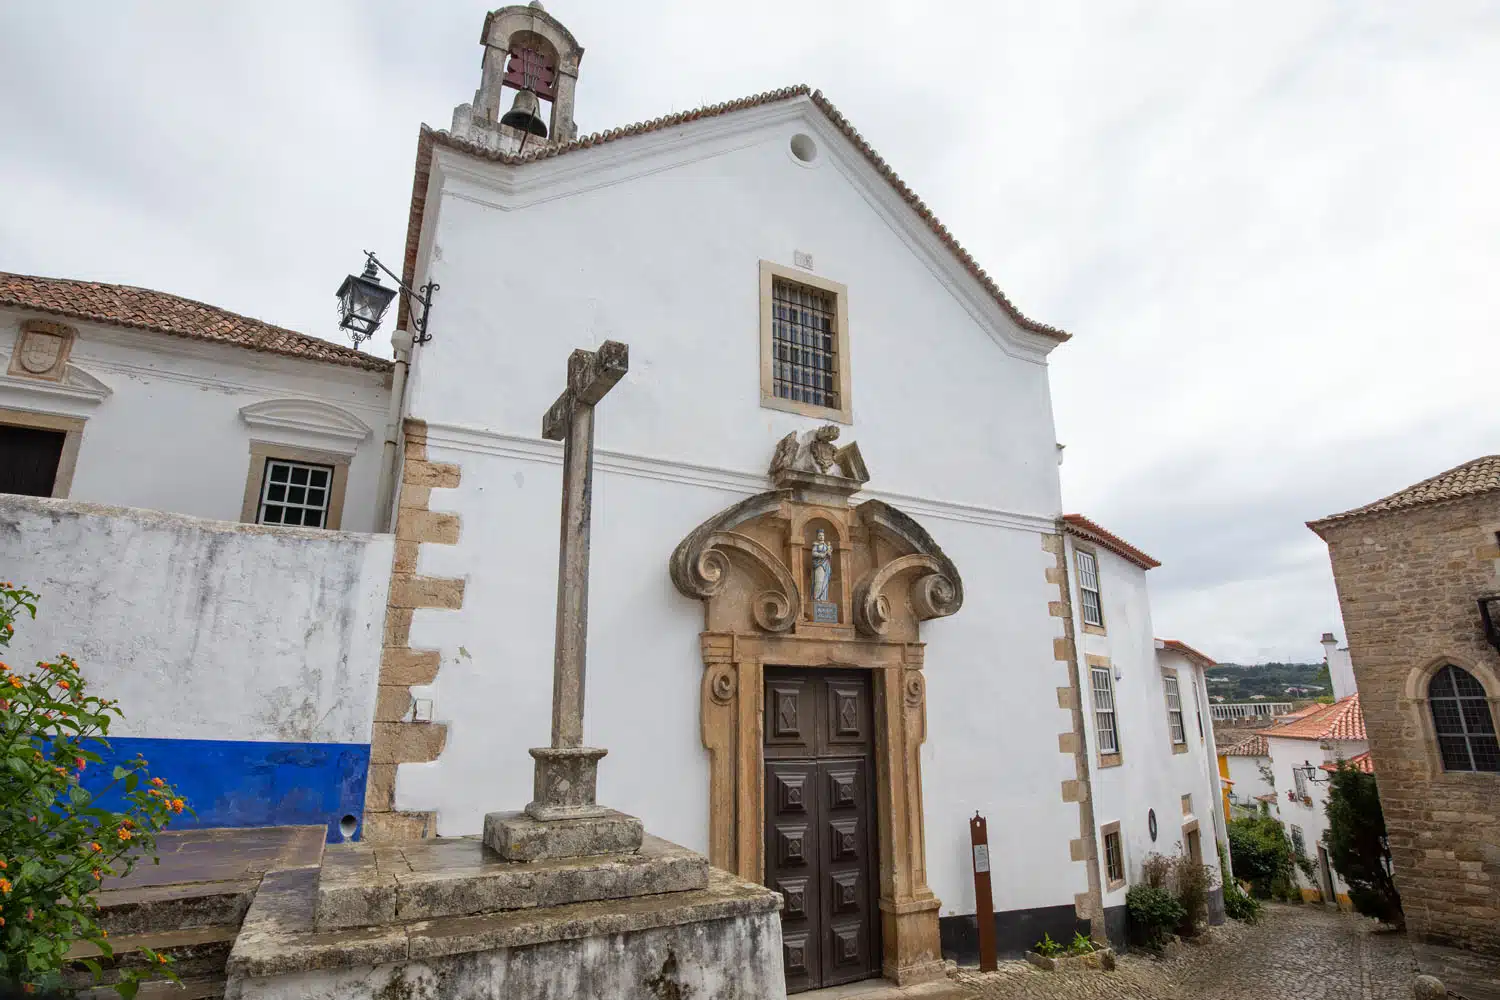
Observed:
[[[453,135],[506,153],[578,136],[573,93],[584,46],[542,7],[484,15],[484,63],[472,105],[453,109]]]

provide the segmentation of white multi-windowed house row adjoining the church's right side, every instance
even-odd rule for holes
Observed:
[[[1112,940],[1124,940],[1125,892],[1154,855],[1218,868],[1224,837],[1203,670],[1214,661],[1156,639],[1140,549],[1082,514],[1062,519],[1092,783],[1094,847]],[[1222,897],[1210,919],[1224,919]],[[1119,934],[1119,937],[1116,937]]]

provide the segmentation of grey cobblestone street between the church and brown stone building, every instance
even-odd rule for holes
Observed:
[[[1124,955],[1113,973],[1044,973],[1002,963],[960,970],[986,1000],[1408,1000],[1416,964],[1404,934],[1322,906],[1268,904],[1256,925],[1230,921],[1170,960]]]

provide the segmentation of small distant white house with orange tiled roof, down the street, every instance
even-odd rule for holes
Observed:
[[[1329,771],[1347,760],[1366,774],[1374,772],[1365,717],[1359,696],[1334,705],[1318,705],[1298,720],[1262,730],[1276,783],[1276,813],[1287,828],[1292,846],[1316,865],[1314,880],[1298,873],[1302,897],[1310,901],[1336,901],[1348,907],[1348,886],[1328,861],[1323,834],[1328,832]]]

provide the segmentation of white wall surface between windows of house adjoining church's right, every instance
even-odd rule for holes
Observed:
[[[1208,708],[1194,705],[1194,688],[1202,691],[1203,679],[1185,657],[1158,651],[1152,634],[1150,598],[1146,571],[1101,547],[1090,546],[1098,561],[1100,600],[1104,604],[1104,636],[1083,631],[1082,598],[1074,540],[1066,537],[1068,580],[1072,588],[1074,631],[1080,642],[1080,673],[1084,705],[1090,778],[1094,784],[1094,822],[1096,828],[1119,822],[1125,850],[1126,885],[1104,892],[1104,906],[1125,903],[1130,885],[1140,879],[1140,865],[1152,853],[1174,855],[1185,850],[1182,796],[1192,795],[1192,817],[1198,820],[1203,861],[1218,867],[1215,840],[1222,837],[1216,814],[1220,804],[1218,765],[1209,736],[1212,726]],[[1101,768],[1098,732],[1094,715],[1094,693],[1083,655],[1107,657],[1114,679],[1116,729],[1120,765]],[[1186,753],[1173,753],[1172,729],[1167,721],[1167,693],[1161,667],[1178,670],[1182,696]],[[1202,696],[1198,696],[1202,697]],[[1203,735],[1197,712],[1203,714]],[[1150,838],[1148,813],[1156,813],[1156,840]],[[1104,840],[1098,837],[1100,874],[1104,879]]]

